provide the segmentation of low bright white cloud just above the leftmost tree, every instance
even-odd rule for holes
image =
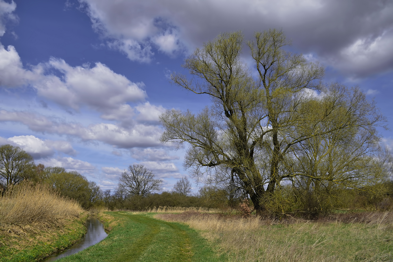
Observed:
[[[42,140],[33,135],[28,136],[15,136],[10,138],[1,138],[1,144],[12,144],[13,146],[19,146],[34,159],[40,159],[50,157],[55,154],[55,150],[67,155],[75,155],[76,151],[72,148],[71,144],[63,140]]]

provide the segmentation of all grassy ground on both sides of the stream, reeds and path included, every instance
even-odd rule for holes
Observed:
[[[214,208],[141,211],[97,212],[108,237],[59,261],[393,261],[389,211],[312,221]],[[15,186],[0,198],[0,261],[39,261],[69,247],[86,232],[86,217],[77,202],[46,186]]]

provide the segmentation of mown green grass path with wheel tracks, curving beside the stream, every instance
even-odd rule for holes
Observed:
[[[108,212],[122,219],[105,240],[57,261],[108,262],[219,262],[209,244],[193,229],[180,223],[152,218],[152,214]]]

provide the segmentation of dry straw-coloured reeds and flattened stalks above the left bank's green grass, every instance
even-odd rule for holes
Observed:
[[[77,202],[59,196],[48,186],[14,186],[0,195],[0,247],[22,250],[51,241],[72,230],[67,227],[82,214],[84,210]]]

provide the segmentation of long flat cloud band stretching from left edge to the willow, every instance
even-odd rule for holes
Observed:
[[[161,146],[161,129],[156,125],[136,124],[131,128],[98,123],[87,127],[75,122],[59,122],[46,116],[26,111],[0,110],[0,121],[19,122],[38,132],[70,135],[84,141],[97,140],[118,148]]]

